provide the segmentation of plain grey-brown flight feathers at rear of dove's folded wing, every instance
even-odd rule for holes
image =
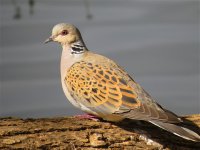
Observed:
[[[135,83],[134,89],[138,96],[137,100],[141,102],[140,107],[131,108],[122,103],[121,107],[115,112],[115,114],[120,114],[125,118],[137,120],[157,120],[170,123],[181,122],[181,119],[177,115],[162,108],[158,103],[156,103],[140,85]]]

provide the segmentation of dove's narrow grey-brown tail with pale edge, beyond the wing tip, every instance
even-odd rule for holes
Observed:
[[[158,122],[158,121],[150,121],[150,122],[186,140],[200,142],[200,136],[190,129],[187,129],[187,128],[184,128],[172,123]]]

